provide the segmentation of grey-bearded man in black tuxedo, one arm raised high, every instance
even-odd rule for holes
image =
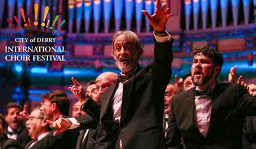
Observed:
[[[172,14],[166,4],[156,1],[153,15],[143,14],[154,29],[155,48],[153,62],[139,66],[143,47],[136,33],[118,31],[113,36],[112,54],[121,73],[119,80],[100,96],[95,112],[100,125],[96,148],[166,148],[162,116],[164,91],[172,75],[172,37],[165,30]],[[70,88],[79,93],[79,84]],[[86,107],[90,101],[79,99]],[[98,114],[100,116],[97,116]]]

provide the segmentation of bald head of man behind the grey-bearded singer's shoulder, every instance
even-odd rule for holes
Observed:
[[[112,86],[113,84],[115,84],[118,78],[119,78],[119,75],[116,73],[112,73],[112,72],[101,73],[96,78],[96,87],[98,89],[98,97],[100,97],[101,93],[107,90],[109,86]]]

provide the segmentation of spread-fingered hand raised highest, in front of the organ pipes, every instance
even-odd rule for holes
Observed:
[[[164,31],[168,19],[172,16],[170,8],[166,8],[166,4],[160,8],[160,0],[156,1],[156,10],[153,15],[150,16],[146,10],[141,10],[141,12],[147,17],[155,31]]]

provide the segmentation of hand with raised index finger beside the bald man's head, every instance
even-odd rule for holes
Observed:
[[[68,89],[73,93],[73,95],[75,95],[75,97],[77,97],[77,99],[79,99],[79,101],[83,101],[85,98],[85,94],[84,94],[84,89],[82,88],[82,85],[79,84],[79,82],[77,82],[77,80],[75,80],[75,78],[71,78],[72,82],[73,82],[73,86],[69,87]]]

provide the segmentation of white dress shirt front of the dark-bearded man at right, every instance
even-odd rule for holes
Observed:
[[[213,90],[214,87],[215,84],[211,86],[211,89]],[[196,90],[200,89],[196,86]],[[204,137],[206,137],[210,125],[211,106],[212,100],[208,95],[194,97],[194,124]]]

